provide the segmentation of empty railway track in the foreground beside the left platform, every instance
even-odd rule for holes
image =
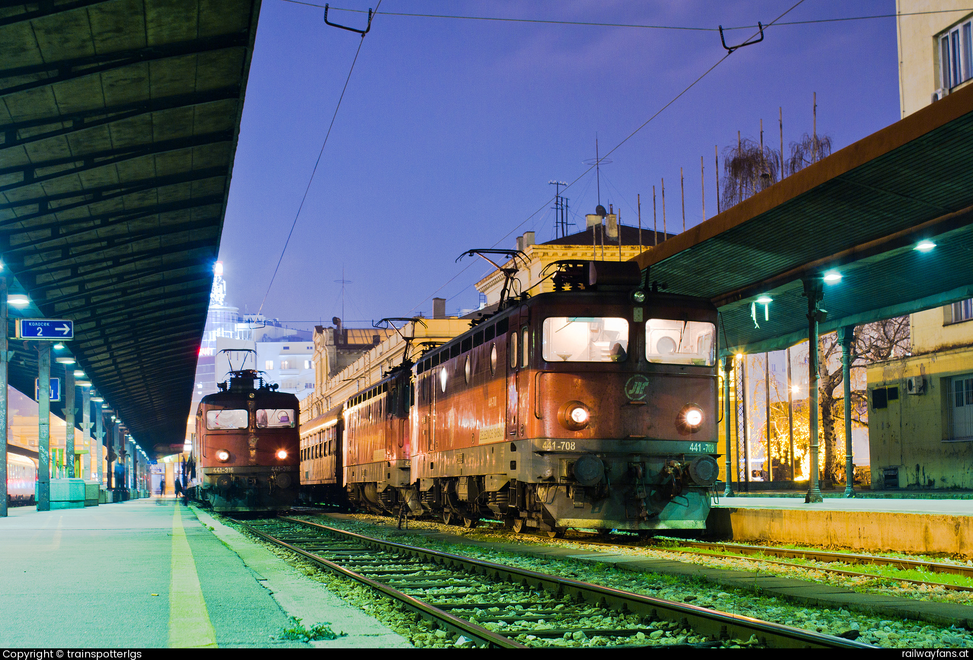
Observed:
[[[461,636],[468,645],[522,648],[555,638],[583,641],[600,636],[609,646],[655,646],[668,632],[677,637],[667,646],[733,645],[755,637],[757,644],[775,648],[871,647],[297,518],[234,522],[322,569],[377,590],[447,634]]]

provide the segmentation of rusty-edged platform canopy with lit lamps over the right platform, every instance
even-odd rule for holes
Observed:
[[[808,278],[841,275],[823,282],[822,332],[973,297],[973,87],[636,260],[648,284],[716,304],[721,355],[807,339]]]

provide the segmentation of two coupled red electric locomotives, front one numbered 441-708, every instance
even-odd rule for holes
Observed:
[[[704,529],[716,309],[646,291],[633,262],[554,265],[554,292],[501,301],[346,401],[353,503],[552,537]]]

